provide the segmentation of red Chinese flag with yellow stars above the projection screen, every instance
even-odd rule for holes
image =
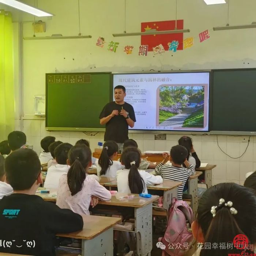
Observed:
[[[150,31],[151,29],[157,31],[174,30],[175,25],[175,20],[143,22],[141,23],[141,32]],[[183,29],[183,20],[177,20],[177,29]],[[177,50],[183,50],[183,33],[141,36],[141,45],[148,45],[148,52],[152,52],[153,47],[160,44],[167,51],[169,50],[168,43],[173,41],[179,42]]]

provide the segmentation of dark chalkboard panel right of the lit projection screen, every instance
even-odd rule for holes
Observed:
[[[211,131],[256,131],[256,69],[212,71],[211,99]]]

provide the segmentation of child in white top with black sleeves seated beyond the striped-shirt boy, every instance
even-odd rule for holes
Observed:
[[[188,156],[187,160],[189,163],[191,163],[195,168],[199,168],[201,165],[201,162],[199,158],[197,157],[196,151],[194,150],[192,139],[188,136],[182,136],[178,140],[179,145],[187,148],[188,150]],[[186,167],[185,164],[183,163],[183,167]]]

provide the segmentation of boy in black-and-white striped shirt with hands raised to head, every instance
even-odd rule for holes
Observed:
[[[177,187],[177,199],[182,200],[182,192],[188,177],[195,174],[195,167],[188,160],[188,151],[185,147],[173,146],[168,153],[163,153],[163,161],[155,168],[155,173],[161,175],[164,180],[181,181],[182,185]],[[168,160],[172,165],[166,164]],[[186,168],[182,166],[185,164]]]

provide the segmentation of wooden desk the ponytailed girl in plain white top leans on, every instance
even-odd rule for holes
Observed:
[[[117,181],[114,178],[100,177],[99,183],[105,187],[117,187]],[[172,198],[177,197],[177,187],[180,186],[182,182],[163,180],[162,184],[158,185],[148,185],[148,192],[154,194],[154,191],[163,191],[163,208],[167,211],[169,210],[170,204],[172,203]]]

